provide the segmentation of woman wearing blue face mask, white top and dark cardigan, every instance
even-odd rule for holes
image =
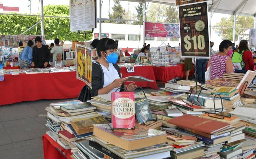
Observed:
[[[91,96],[109,94],[115,92],[119,87],[133,91],[137,87],[135,82],[125,86],[124,81],[127,79],[121,78],[120,68],[116,64],[118,60],[116,42],[109,38],[94,39],[92,46],[97,49],[98,59],[92,64]]]

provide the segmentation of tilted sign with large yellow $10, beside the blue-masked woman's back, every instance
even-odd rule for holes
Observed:
[[[92,89],[92,49],[75,44],[76,78],[85,82]]]

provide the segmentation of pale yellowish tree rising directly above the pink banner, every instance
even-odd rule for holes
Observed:
[[[146,16],[147,21],[150,22],[165,22],[166,19],[166,5],[152,3],[149,7]]]

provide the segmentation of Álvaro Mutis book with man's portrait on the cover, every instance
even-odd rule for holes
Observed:
[[[147,97],[135,100],[135,115],[139,123],[145,123],[152,120]]]

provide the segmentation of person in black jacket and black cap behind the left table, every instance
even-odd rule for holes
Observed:
[[[50,51],[47,46],[42,45],[40,37],[35,38],[36,46],[33,47],[33,58],[31,66],[35,68],[49,67]]]

